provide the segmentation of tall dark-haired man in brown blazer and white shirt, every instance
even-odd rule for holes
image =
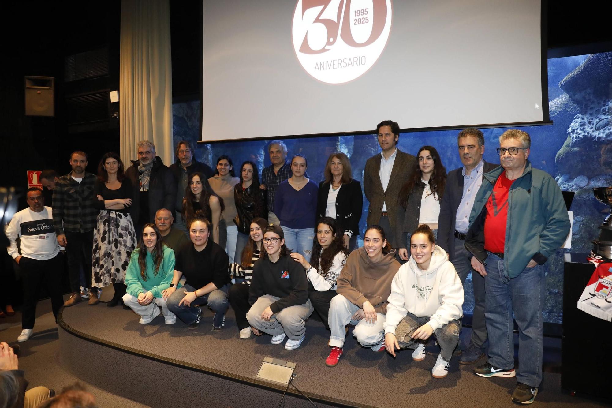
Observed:
[[[397,248],[394,229],[397,222],[398,197],[401,186],[416,166],[416,157],[397,148],[400,126],[394,121],[382,121],[376,126],[378,144],[383,151],[365,162],[364,192],[370,202],[368,225],[383,227],[387,241]]]

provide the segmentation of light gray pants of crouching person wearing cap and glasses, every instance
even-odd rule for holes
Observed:
[[[262,319],[261,314],[268,306],[277,301],[277,298],[272,295],[263,295],[251,306],[247,313],[247,320],[250,325],[264,333],[278,336],[283,334],[291,340],[299,340],[306,333],[304,320],[312,314],[313,307],[310,300],[304,304],[295,304],[288,308],[282,309],[280,312],[272,315],[269,321]]]

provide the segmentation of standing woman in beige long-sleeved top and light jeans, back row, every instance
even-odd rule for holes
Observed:
[[[208,179],[212,190],[225,203],[225,209],[221,214],[225,221],[226,243],[223,248],[230,257],[230,263],[234,262],[234,254],[236,254],[236,239],[238,236],[238,227],[234,222],[234,217],[237,216],[236,203],[234,203],[234,186],[239,183],[239,179],[234,176],[234,164],[230,156],[223,154],[217,159],[217,172],[214,176]]]

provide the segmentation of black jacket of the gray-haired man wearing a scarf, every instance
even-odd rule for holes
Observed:
[[[140,173],[138,172],[139,160],[133,160],[132,165],[125,170],[125,176],[130,178],[134,187],[134,198],[130,214],[134,225],[140,222],[155,222],[155,212],[160,208],[167,208],[174,214],[174,202],[176,201],[176,180],[170,169],[163,164],[162,158],[155,156],[151,179],[149,181],[149,214],[140,214]]]

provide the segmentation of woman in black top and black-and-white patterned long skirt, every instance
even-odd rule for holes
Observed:
[[[130,254],[136,246],[136,232],[130,216],[133,188],[119,154],[102,156],[98,165],[98,179],[94,184],[94,208],[99,210],[94,229],[92,252],[92,287],[113,284],[113,299],[106,303],[117,306],[125,295],[125,271]],[[89,271],[86,271],[88,273]],[[99,303],[96,289],[89,294],[89,304]]]

